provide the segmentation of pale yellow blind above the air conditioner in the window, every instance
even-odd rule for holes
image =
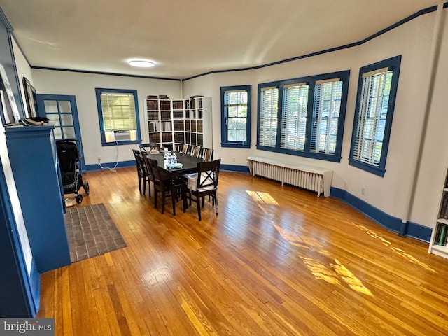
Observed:
[[[104,131],[137,130],[134,95],[102,92]]]

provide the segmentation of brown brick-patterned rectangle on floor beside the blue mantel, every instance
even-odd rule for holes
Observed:
[[[71,262],[126,247],[104,204],[66,210],[65,225]]]

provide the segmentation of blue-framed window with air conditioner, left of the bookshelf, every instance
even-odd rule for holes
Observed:
[[[97,88],[95,92],[102,145],[141,142],[137,90]]]

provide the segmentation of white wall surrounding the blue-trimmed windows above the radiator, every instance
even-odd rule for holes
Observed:
[[[205,76],[208,79],[201,77],[187,80],[183,83],[184,92],[190,92],[190,87],[195,87],[195,91],[200,92],[201,85],[207,85],[207,87],[203,87],[204,92],[209,91],[209,87],[212,87],[213,119],[215,120],[215,156],[216,158],[222,158],[223,163],[247,165],[247,157],[249,155],[260,155],[286,160],[288,162],[300,162],[319,167],[327,167],[334,171],[332,180],[333,187],[346,190],[351,195],[365,200],[365,202],[386,212],[386,214],[402,218],[407,214],[407,202],[404,195],[412,186],[412,179],[414,179],[412,165],[416,162],[417,148],[419,148],[419,137],[416,136],[416,130],[419,130],[421,123],[423,123],[426,106],[426,97],[422,96],[422,85],[424,87],[428,83],[429,54],[434,22],[435,13],[429,13],[407,22],[405,25],[396,27],[392,31],[388,31],[386,34],[378,36],[372,41],[355,48],[338,50],[336,52],[300,59],[285,64],[277,64],[254,71],[214,73]],[[396,55],[402,55],[400,81],[393,116],[388,158],[386,161],[386,173],[381,178],[356,167],[349,166],[348,164],[354,109],[356,105],[358,73],[361,66],[379,62]],[[301,158],[294,155],[258,151],[255,148],[257,132],[257,85],[259,83],[347,69],[351,71],[351,76],[341,162]],[[441,80],[444,80],[444,78]],[[221,148],[217,146],[221,142],[220,125],[216,125],[216,121],[221,120],[221,87],[249,84],[252,85],[252,146],[250,149]],[[444,87],[447,86],[445,85]],[[444,96],[443,100],[445,100]],[[440,125],[442,123],[440,121],[440,111],[435,111],[435,114],[439,115],[436,117],[437,121],[435,123]],[[448,125],[446,120],[442,125]],[[441,127],[439,126],[439,128]],[[432,137],[437,136],[433,134]],[[438,138],[440,138],[440,135]],[[430,146],[434,146],[437,140],[428,139],[428,141],[431,144]],[[412,211],[411,218],[409,218],[410,221],[430,227],[433,226],[434,214],[437,211],[435,208],[438,207],[438,197],[440,196],[438,191],[440,189],[440,174],[444,175],[443,171],[446,168],[446,158],[448,157],[448,153],[446,152],[444,152],[444,155],[441,155],[443,160],[440,162],[440,169],[437,169],[436,172],[438,179],[437,176],[433,176],[430,172],[422,173],[419,176],[420,187],[417,188],[417,193],[425,193],[425,197],[424,201],[420,197],[416,197],[414,204],[412,204],[414,210]],[[233,162],[234,158],[235,162]],[[430,165],[430,167],[433,166]],[[424,167],[423,171],[426,170],[430,171],[429,167]],[[365,195],[361,195],[361,188],[365,188]],[[433,192],[430,192],[428,188],[434,189]],[[428,207],[428,205],[431,205],[431,207]]]

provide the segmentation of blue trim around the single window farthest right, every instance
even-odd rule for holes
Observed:
[[[366,172],[370,172],[372,174],[383,177],[386,172],[386,158],[389,147],[389,140],[391,137],[391,129],[392,129],[392,120],[393,120],[393,111],[395,110],[395,99],[397,96],[398,89],[398,78],[400,77],[400,64],[401,64],[401,55],[391,57],[388,59],[384,59],[383,61],[376,62],[374,64],[370,64],[367,66],[363,66],[359,69],[358,76],[358,92],[356,93],[356,107],[355,107],[355,117],[353,119],[353,130],[351,132],[351,146],[350,146],[350,155],[349,155],[349,165],[353,167],[357,167],[359,169],[363,169]],[[360,162],[358,160],[353,160],[353,151],[355,145],[355,137],[356,134],[356,120],[358,120],[359,109],[360,109],[360,94],[363,87],[363,73],[367,73],[370,71],[374,71],[377,69],[382,69],[388,67],[389,70],[393,71],[392,83],[391,83],[391,92],[389,93],[389,102],[386,116],[386,126],[384,127],[384,139],[383,146],[381,148],[381,159],[379,160],[379,166],[375,167],[372,165],[368,165],[367,163]]]

